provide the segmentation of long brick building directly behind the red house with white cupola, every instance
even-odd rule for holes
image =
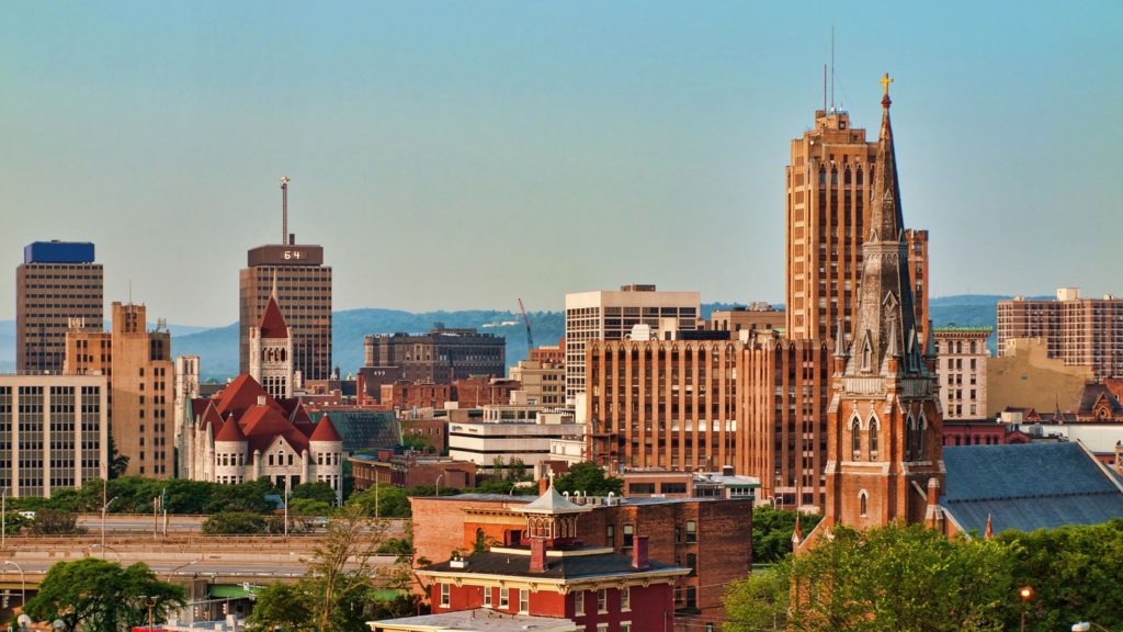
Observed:
[[[414,497],[413,544],[418,558],[448,559],[454,551],[524,541],[526,520],[517,509],[530,498],[489,494]],[[591,511],[577,539],[591,547],[630,553],[648,536],[652,559],[691,568],[674,586],[676,621],[714,623],[721,630],[723,586],[751,567],[751,498],[574,497]],[[593,629],[590,629],[593,630]]]

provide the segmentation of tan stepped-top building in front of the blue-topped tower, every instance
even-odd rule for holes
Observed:
[[[150,478],[174,473],[175,382],[172,334],[148,332],[144,305],[112,305],[112,329],[66,332],[64,372],[109,377],[109,428],[127,472]]]

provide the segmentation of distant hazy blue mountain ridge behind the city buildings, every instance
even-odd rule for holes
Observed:
[[[934,297],[929,303],[935,326],[996,326],[995,305],[1011,298],[1005,295],[956,295]],[[1049,298],[1046,296],[1043,298]],[[738,304],[707,303],[702,317],[715,309],[729,309]],[[535,345],[557,344],[565,334],[565,316],[560,312],[532,312],[530,317]],[[347,309],[334,314],[332,358],[340,372],[354,373],[363,364],[363,338],[368,334],[424,333],[435,323],[446,327],[473,327],[481,333],[506,338],[508,365],[527,356],[527,332],[522,315],[513,312],[471,309],[457,312],[412,313],[401,309]],[[154,325],[149,325],[152,327]],[[0,371],[11,371],[16,359],[16,324],[0,320]],[[225,380],[238,373],[238,324],[225,327],[191,327],[168,325],[172,352],[176,355],[199,355],[203,379]],[[992,350],[994,335],[990,337]]]

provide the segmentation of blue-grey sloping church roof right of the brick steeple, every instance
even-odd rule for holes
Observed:
[[[965,531],[995,533],[1123,517],[1123,488],[1077,443],[964,445],[943,449],[940,504]]]

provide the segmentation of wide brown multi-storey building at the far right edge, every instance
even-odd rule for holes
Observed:
[[[1015,338],[1041,338],[1050,358],[1092,367],[1097,379],[1123,377],[1123,298],[1081,298],[1079,288],[1060,288],[1057,300],[999,300],[999,358]]]

